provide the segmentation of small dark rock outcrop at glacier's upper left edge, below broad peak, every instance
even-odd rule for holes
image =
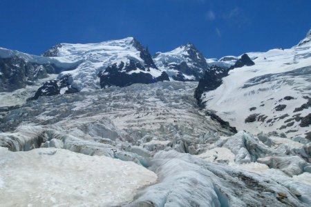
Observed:
[[[65,75],[59,80],[47,81],[44,83],[43,86],[41,86],[37,90],[37,92],[35,93],[35,96],[29,98],[28,101],[36,100],[42,96],[60,95],[61,89],[66,88],[66,87],[67,88],[65,89],[65,92],[64,92],[65,94],[79,92],[79,90],[70,86],[71,83],[73,83],[73,78],[71,77],[71,75]]]

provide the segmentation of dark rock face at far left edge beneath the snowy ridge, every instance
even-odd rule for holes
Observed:
[[[0,58],[0,68],[0,92],[12,92],[25,88],[37,79],[48,77],[48,74],[62,70],[53,64],[30,63],[17,56]]]

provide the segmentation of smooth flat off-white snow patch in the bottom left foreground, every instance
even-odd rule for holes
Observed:
[[[133,162],[69,150],[0,147],[0,157],[1,206],[117,206],[157,179]]]

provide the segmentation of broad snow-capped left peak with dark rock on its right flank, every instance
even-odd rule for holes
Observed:
[[[94,44],[62,43],[44,52],[44,56],[80,62],[75,70],[62,72],[73,77],[72,88],[77,91],[154,83],[162,75],[148,49],[132,37]]]

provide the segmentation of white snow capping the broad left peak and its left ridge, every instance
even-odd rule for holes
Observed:
[[[100,88],[98,73],[113,63],[124,64],[130,60],[138,61],[144,66],[144,60],[140,58],[140,51],[133,46],[133,37],[101,43],[72,44],[61,43],[57,48],[57,57],[41,57],[28,55],[15,50],[0,48],[0,57],[12,57],[17,55],[25,61],[34,63],[53,63],[55,66],[64,68],[59,77],[70,74],[73,77],[73,86],[78,90],[89,91]],[[73,70],[73,68],[75,68]],[[161,75],[162,71],[149,68],[144,71],[137,68],[133,72],[150,73],[153,77]]]

